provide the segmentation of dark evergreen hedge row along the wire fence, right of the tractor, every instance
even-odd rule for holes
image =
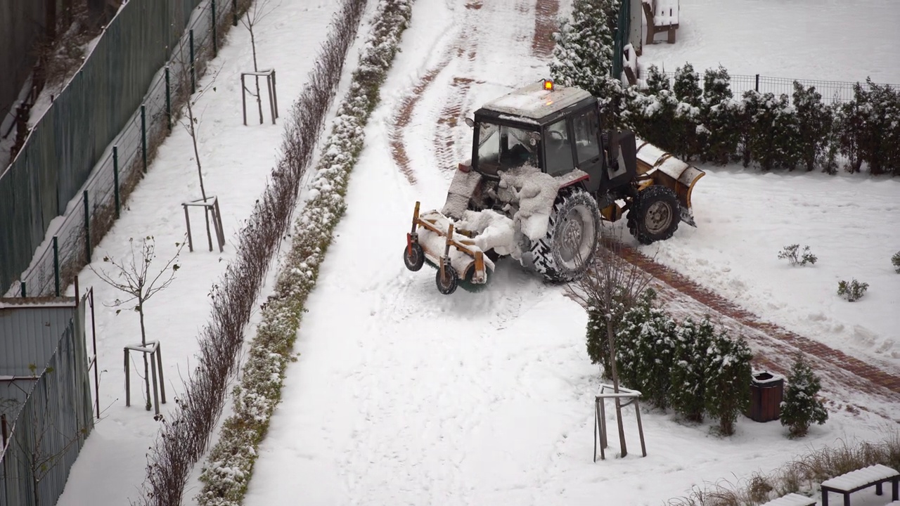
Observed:
[[[853,86],[850,102],[826,105],[815,86],[797,81],[790,97],[753,90],[734,97],[730,84],[722,67],[707,69],[701,82],[686,64],[670,85],[652,66],[646,89],[608,81],[607,113],[684,159],[829,174],[865,164],[873,176],[900,176],[900,93],[891,86],[867,80]]]

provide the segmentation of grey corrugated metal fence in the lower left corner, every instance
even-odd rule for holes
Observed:
[[[3,428],[0,506],[56,504],[94,429],[84,317],[81,303],[18,415]]]

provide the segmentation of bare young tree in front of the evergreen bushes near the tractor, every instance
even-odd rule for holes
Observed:
[[[626,260],[629,251],[623,246],[621,237],[612,237],[600,228],[600,244],[593,264],[588,268],[574,286],[572,293],[581,300],[582,305],[599,312],[605,322],[607,347],[609,354],[609,371],[607,374],[613,381],[613,390],[619,393],[618,371],[616,366],[616,332],[625,313],[631,309],[637,297],[650,284],[652,277],[641,267]],[[634,253],[632,251],[632,253]],[[622,456],[626,456],[625,428],[622,423],[622,402],[616,398],[616,419],[618,424],[619,445]]]

